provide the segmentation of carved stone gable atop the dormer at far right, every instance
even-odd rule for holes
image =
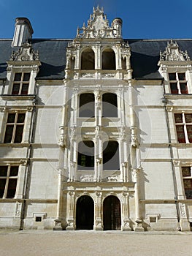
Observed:
[[[167,42],[167,47],[164,53],[160,52],[160,61],[190,61],[187,50],[180,50],[177,42]]]

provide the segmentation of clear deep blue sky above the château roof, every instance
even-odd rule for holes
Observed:
[[[110,23],[123,19],[123,38],[192,38],[191,0],[0,0],[0,38],[12,38],[15,18],[31,21],[34,38],[74,38],[93,6]]]

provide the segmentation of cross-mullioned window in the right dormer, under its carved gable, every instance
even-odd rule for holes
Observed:
[[[172,94],[188,94],[185,72],[169,73],[169,84]]]

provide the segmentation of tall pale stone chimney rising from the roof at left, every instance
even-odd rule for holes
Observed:
[[[27,18],[16,18],[15,21],[12,47],[23,45],[24,42],[32,38],[32,34],[34,33],[31,23]]]

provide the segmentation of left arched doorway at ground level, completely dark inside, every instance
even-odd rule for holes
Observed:
[[[82,195],[77,200],[76,208],[76,229],[93,230],[94,203],[88,195]]]

